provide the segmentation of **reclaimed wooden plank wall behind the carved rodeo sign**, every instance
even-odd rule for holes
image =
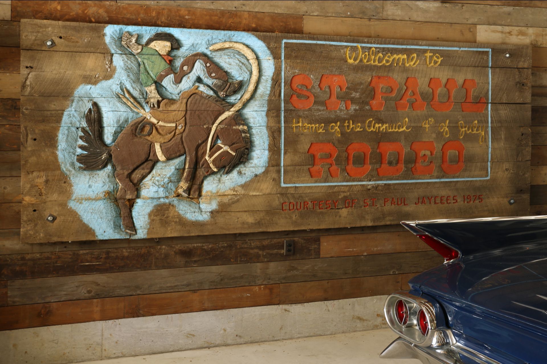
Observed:
[[[0,0],[0,330],[385,295],[441,262],[400,226],[21,244],[21,19],[530,44],[531,210],[547,214],[545,1]]]

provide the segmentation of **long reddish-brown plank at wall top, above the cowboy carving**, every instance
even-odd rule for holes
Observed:
[[[101,16],[96,16],[97,14]],[[13,20],[44,19],[245,32],[302,33],[302,15],[95,1],[12,1],[11,16]]]

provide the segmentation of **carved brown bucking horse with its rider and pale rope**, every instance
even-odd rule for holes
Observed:
[[[143,57],[143,59],[139,58],[141,80],[143,80],[144,55],[150,57],[144,52],[158,56],[154,50],[148,50],[148,48],[152,49],[155,46],[155,51],[158,51],[167,62],[170,58],[166,56],[168,51],[176,49],[176,41],[165,38],[170,34],[159,34],[154,36],[159,40],[147,47],[135,42],[137,34],[130,37],[129,34],[124,33],[122,43],[137,57],[139,55]],[[166,42],[171,42],[171,46]],[[167,49],[164,49],[165,46]],[[191,68],[205,69],[208,74],[202,78],[207,76],[214,78],[217,73],[223,72],[202,54],[194,54],[185,58],[177,74],[174,74],[171,68],[165,68],[164,71],[159,70],[161,72],[158,72],[158,75],[153,75],[156,77],[152,80],[153,88],[151,85],[143,85],[148,92],[147,103],[152,107],[149,111],[144,110],[127,90],[124,92],[125,95],[118,93],[118,96],[131,109],[142,116],[131,121],[121,131],[112,146],[103,142],[101,116],[97,104],[92,102],[85,113],[87,127],[81,128],[82,135],[80,135],[80,140],[85,144],[78,145],[85,153],[78,154],[76,160],[82,165],[80,169],[98,170],[106,167],[108,161],[112,159],[115,179],[119,185],[116,199],[123,229],[129,234],[136,234],[131,210],[137,198],[139,184],[152,172],[156,162],[171,160],[185,154],[184,171],[173,197],[196,199],[200,196],[201,185],[206,175],[218,172],[220,169],[224,169],[224,174],[229,173],[238,163],[247,160],[251,139],[245,120],[242,119],[238,110],[251,98],[257,86],[259,76],[257,57],[251,49],[241,43],[222,42],[212,45],[210,49],[212,51],[234,49],[245,55],[251,63],[249,84],[235,104],[229,104],[216,96],[208,95],[198,90],[197,86],[179,92],[178,99],[161,100],[155,92],[154,82],[159,81],[161,77],[163,77],[161,80],[165,79],[166,74],[175,82],[178,77],[180,83],[181,74],[187,74],[192,71]],[[146,80],[143,80],[143,83],[144,81]],[[220,97],[224,97],[230,93],[233,94],[239,88],[241,81],[229,83],[227,77],[220,80],[217,77],[212,80],[212,83],[216,84],[212,88]],[[156,107],[158,103],[159,107]]]

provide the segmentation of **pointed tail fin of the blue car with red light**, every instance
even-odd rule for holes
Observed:
[[[547,216],[403,221],[445,262],[515,245],[547,241]]]

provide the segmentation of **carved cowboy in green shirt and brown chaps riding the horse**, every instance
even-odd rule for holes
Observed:
[[[141,83],[148,94],[146,103],[151,108],[157,108],[162,100],[156,90],[156,82],[177,97],[183,91],[191,89],[197,78],[211,86],[223,98],[234,95],[241,86],[241,80],[229,82],[226,72],[199,52],[184,58],[175,73],[170,65],[173,58],[168,54],[180,46],[177,39],[169,33],[155,33],[144,46],[137,43],[137,37],[138,34],[130,36],[128,32],[124,32],[121,44],[139,60]]]

